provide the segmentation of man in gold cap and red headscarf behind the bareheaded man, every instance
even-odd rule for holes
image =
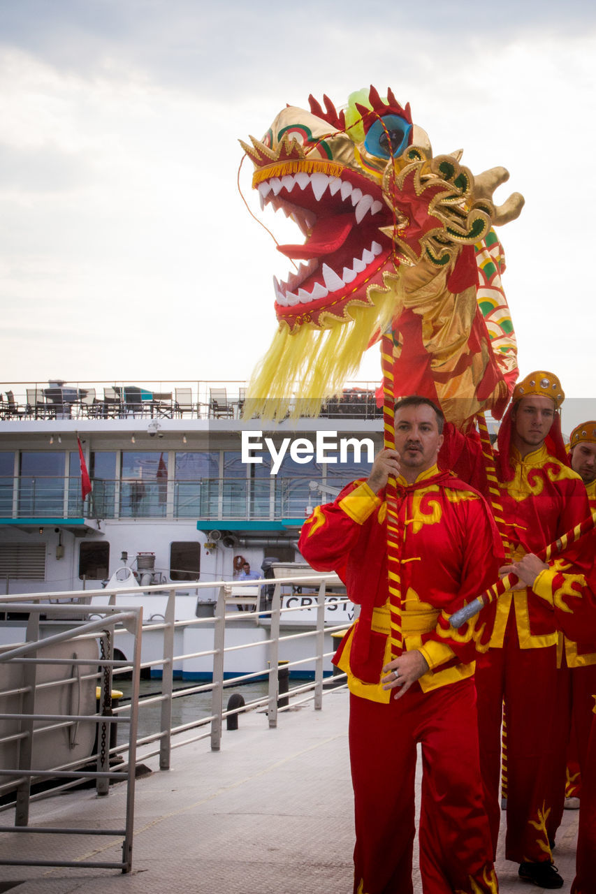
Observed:
[[[565,394],[545,371],[515,385],[498,430],[495,467],[499,513],[509,561],[539,552],[588,515],[580,477],[568,465],[559,409]],[[474,434],[446,426],[439,465],[484,490],[479,480],[481,445]],[[506,569],[501,569],[505,573]],[[524,881],[561,888],[551,854],[553,779],[564,779],[566,736],[558,733],[558,628],[531,587],[507,590],[498,599],[487,661],[476,673],[482,780],[493,854],[500,822],[501,722],[507,727],[506,857]],[[565,722],[565,721],[564,721]],[[559,774],[559,775],[558,775]],[[562,803],[562,802],[561,802]]]

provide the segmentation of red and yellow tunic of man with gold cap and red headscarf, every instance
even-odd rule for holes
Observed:
[[[539,552],[558,536],[575,527],[589,514],[582,479],[564,463],[551,456],[544,444],[522,457],[512,450],[515,475],[500,482],[499,490],[512,557],[519,560],[527,552]],[[502,647],[511,603],[522,649],[556,645],[557,625],[552,611],[526,588],[508,591],[497,604],[491,647]]]

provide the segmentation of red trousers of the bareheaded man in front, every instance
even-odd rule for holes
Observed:
[[[473,679],[389,704],[351,696],[354,894],[412,894],[414,774],[421,743],[424,894],[496,894]]]

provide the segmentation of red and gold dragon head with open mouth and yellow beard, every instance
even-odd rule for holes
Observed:
[[[242,143],[261,205],[305,237],[277,246],[296,271],[274,281],[279,327],[247,411],[316,415],[384,336],[396,396],[425,394],[458,424],[481,409],[500,416],[517,366],[492,226],[524,204],[514,193],[494,205],[507,171],[474,178],[460,151],[433,156],[390,89],[353,94],[341,111],[328,97],[310,105],[287,106]]]

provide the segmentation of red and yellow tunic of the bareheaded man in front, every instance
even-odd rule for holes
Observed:
[[[428,662],[419,680],[428,692],[472,676],[477,651],[488,647],[488,612],[459,630],[449,617],[497,579],[500,541],[481,494],[437,466],[413,485],[397,479],[397,518],[404,647]],[[334,659],[350,691],[388,704],[391,692],[379,685],[391,658],[386,519],[384,493],[355,481],[314,510],[299,548],[313,568],[335,570],[361,606]]]

